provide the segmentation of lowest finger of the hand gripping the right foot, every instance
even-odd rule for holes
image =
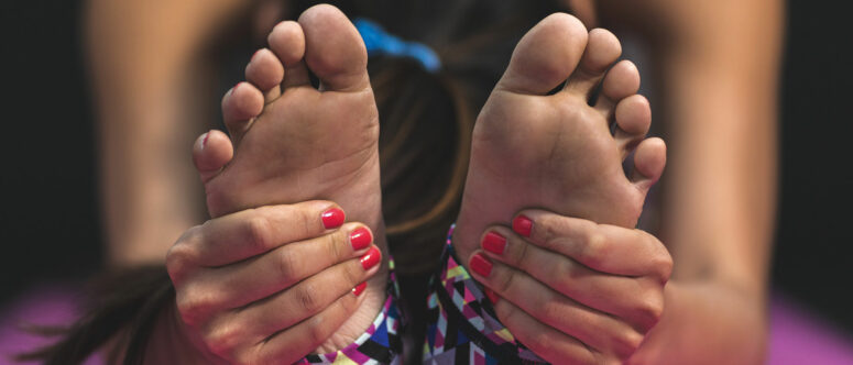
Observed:
[[[549,363],[598,363],[599,355],[582,342],[544,324],[507,300],[499,300],[494,312],[518,342]]]

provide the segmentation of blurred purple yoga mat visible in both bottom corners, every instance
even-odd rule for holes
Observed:
[[[0,365],[21,364],[9,356],[50,342],[21,332],[20,323],[68,323],[75,318],[78,299],[73,286],[45,286],[30,290],[0,311]],[[767,358],[768,365],[851,365],[853,341],[792,300],[776,295],[770,307]],[[102,361],[95,356],[85,364],[102,364]]]

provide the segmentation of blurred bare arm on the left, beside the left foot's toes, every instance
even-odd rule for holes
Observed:
[[[216,100],[205,74],[214,63],[203,51],[253,2],[88,1],[111,265],[162,262],[169,243],[203,220],[193,166],[174,156],[216,120],[203,103]]]

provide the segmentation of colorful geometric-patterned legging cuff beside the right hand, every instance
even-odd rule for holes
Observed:
[[[441,256],[446,264],[433,277],[427,297],[424,364],[547,364],[501,324],[489,298],[458,264],[450,240],[453,228]]]

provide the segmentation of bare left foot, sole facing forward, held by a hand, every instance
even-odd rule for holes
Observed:
[[[379,114],[364,43],[335,7],[316,5],[276,25],[222,99],[231,134],[211,131],[194,159],[212,217],[261,206],[330,200],[369,225],[387,253],[381,211]],[[308,71],[320,79],[310,85]],[[309,259],[306,257],[306,259]],[[352,343],[385,300],[387,264],[368,281],[359,310],[317,351]]]

